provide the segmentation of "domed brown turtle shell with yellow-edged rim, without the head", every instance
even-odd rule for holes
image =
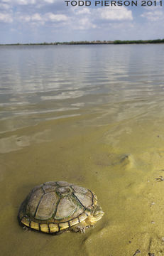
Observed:
[[[35,186],[21,204],[18,218],[23,225],[45,233],[58,233],[82,223],[97,204],[87,188],[66,181]]]

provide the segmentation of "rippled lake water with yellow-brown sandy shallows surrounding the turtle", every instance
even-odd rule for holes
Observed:
[[[2,255],[164,255],[163,67],[163,44],[0,47]],[[102,220],[23,230],[31,188],[63,180],[97,194]]]

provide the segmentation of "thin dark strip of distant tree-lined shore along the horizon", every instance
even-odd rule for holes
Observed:
[[[164,43],[164,39],[154,40],[131,40],[131,41],[70,41],[54,43],[0,43],[0,46],[58,46],[58,45],[106,45],[106,44],[141,44],[141,43]]]

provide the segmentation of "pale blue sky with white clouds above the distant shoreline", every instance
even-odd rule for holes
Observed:
[[[132,0],[122,0],[122,6],[104,2],[0,0],[0,43],[164,38],[164,0],[143,1],[145,6],[141,0],[137,6],[131,6]]]

